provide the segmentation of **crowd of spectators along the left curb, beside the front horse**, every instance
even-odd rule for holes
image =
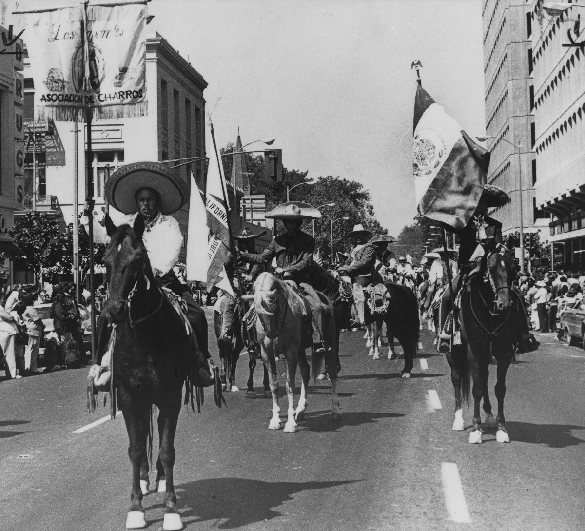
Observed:
[[[44,287],[15,284],[0,291],[0,362],[4,362],[7,379],[87,365],[90,359],[82,330],[85,310],[78,304],[76,292],[73,282]],[[89,292],[84,290],[82,298],[85,295]],[[43,323],[43,307],[50,307],[52,330],[46,330]],[[39,368],[41,347],[44,370]]]

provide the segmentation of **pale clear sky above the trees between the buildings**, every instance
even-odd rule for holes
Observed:
[[[152,0],[148,9],[147,30],[208,82],[220,146],[238,127],[243,144],[275,137],[285,167],[361,182],[391,235],[417,212],[413,60],[433,99],[470,136],[484,135],[480,0]]]

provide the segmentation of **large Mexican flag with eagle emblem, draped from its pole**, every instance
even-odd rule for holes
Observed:
[[[486,184],[490,153],[417,85],[412,169],[418,211],[455,230],[469,223]]]

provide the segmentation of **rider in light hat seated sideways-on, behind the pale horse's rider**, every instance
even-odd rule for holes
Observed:
[[[375,243],[367,241],[368,237],[371,236],[370,231],[364,229],[360,223],[355,225],[352,232],[348,233],[347,236],[353,237],[356,244],[349,254],[349,259],[339,268],[339,274],[352,278],[357,318],[360,321],[360,325],[363,325],[365,322],[365,301],[363,296],[360,296],[363,294],[363,288],[370,284],[383,283],[384,279],[376,270],[377,246]],[[384,242],[384,244],[387,245],[388,242]]]

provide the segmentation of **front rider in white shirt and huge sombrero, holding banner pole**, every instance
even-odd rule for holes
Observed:
[[[195,332],[199,349],[209,358],[205,313],[195,302],[187,285],[181,283],[173,271],[183,247],[183,234],[171,214],[187,202],[187,185],[165,165],[143,162],[128,164],[116,171],[106,183],[105,193],[109,204],[126,214],[123,223],[133,226],[137,219],[144,223],[142,242],[154,278],[181,296],[187,306],[187,319]],[[112,223],[109,216],[106,223]],[[97,222],[94,222],[94,241],[109,243],[105,227]],[[110,335],[105,313],[100,315],[97,328],[98,351],[94,363],[99,364]]]

